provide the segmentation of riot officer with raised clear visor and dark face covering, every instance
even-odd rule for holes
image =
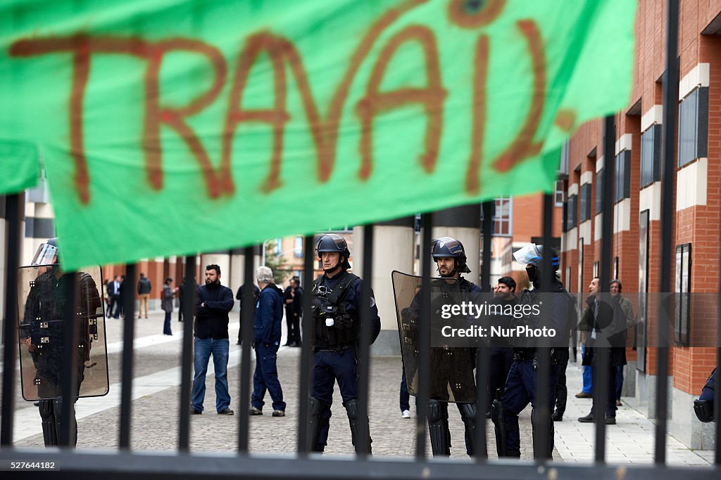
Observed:
[[[556,332],[557,338],[546,338],[544,342],[560,345],[562,341],[567,341],[567,332],[570,325],[568,320],[570,312],[575,312],[572,297],[563,288],[563,285],[557,278],[556,271],[559,268],[559,255],[553,249],[549,248],[551,254],[552,268],[552,285],[545,289],[549,294],[541,298],[541,268],[543,265],[544,248],[543,245],[535,245],[531,243],[521,250],[513,253],[518,263],[526,265],[526,273],[528,281],[533,284],[533,289],[524,290],[521,296],[521,305],[539,306],[537,312],[548,315],[548,320],[552,325],[552,329]],[[547,300],[547,302],[544,302]],[[545,305],[543,305],[546,303]],[[541,310],[543,308],[544,310]],[[528,309],[527,309],[528,310]],[[531,308],[531,311],[533,309]],[[541,315],[530,314],[517,320],[518,326],[526,327],[542,327]],[[550,331],[550,330],[549,330]],[[554,446],[554,429],[551,409],[555,396],[557,372],[558,372],[558,353],[560,349],[551,348],[548,382],[548,399],[547,399],[547,415],[541,415],[536,408],[536,368],[538,366],[539,357],[537,355],[539,348],[536,348],[534,340],[528,338],[513,338],[511,340],[513,346],[513,363],[510,366],[508,377],[505,383],[505,391],[499,400],[494,400],[491,405],[491,420],[495,425],[496,448],[499,457],[508,456],[519,458],[521,456],[521,437],[518,431],[518,414],[531,403],[531,426],[533,427],[533,444],[534,458],[552,458]],[[567,345],[566,345],[567,348]],[[545,425],[541,425],[545,423]],[[540,433],[547,428],[549,439],[547,442],[548,450],[541,451]]]

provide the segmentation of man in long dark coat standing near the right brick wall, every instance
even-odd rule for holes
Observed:
[[[616,367],[626,365],[626,316],[622,312],[617,299],[611,296],[601,298],[600,279],[594,277],[590,281],[588,291],[590,296],[586,299],[588,308],[583,312],[583,317],[578,324],[578,330],[586,333],[585,355],[583,365],[593,366],[594,371],[598,368],[606,368],[609,371],[608,389],[602,392],[606,397],[606,425],[616,425]],[[598,348],[609,348],[609,363],[598,364]],[[593,381],[596,386],[596,380]],[[593,396],[594,403],[596,396]],[[585,417],[579,417],[578,421],[590,423],[595,420],[593,412],[595,405]]]

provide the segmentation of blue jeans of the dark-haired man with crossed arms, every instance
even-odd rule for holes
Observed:
[[[195,376],[191,407],[203,412],[205,399],[205,372],[213,354],[213,368],[216,373],[216,411],[222,412],[230,406],[228,393],[228,353],[230,342],[227,338],[195,338]]]

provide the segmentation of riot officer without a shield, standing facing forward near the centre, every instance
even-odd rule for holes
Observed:
[[[343,237],[331,233],[319,237],[316,252],[323,275],[314,281],[313,303],[313,385],[311,387],[311,449],[322,452],[327,445],[333,386],[338,382],[356,453],[360,453],[358,423],[358,355],[361,335],[361,285],[357,275],[348,272],[350,251]],[[365,306],[363,306],[365,307]],[[371,294],[371,343],[381,332],[376,301]],[[367,366],[363,366],[367,368]],[[371,439],[368,438],[368,452]]]

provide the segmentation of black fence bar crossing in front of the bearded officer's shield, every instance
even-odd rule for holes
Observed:
[[[416,397],[415,458],[425,461],[425,424],[428,417],[428,394],[430,392],[430,242],[433,229],[433,213],[420,216],[420,333],[418,335],[418,395]]]

